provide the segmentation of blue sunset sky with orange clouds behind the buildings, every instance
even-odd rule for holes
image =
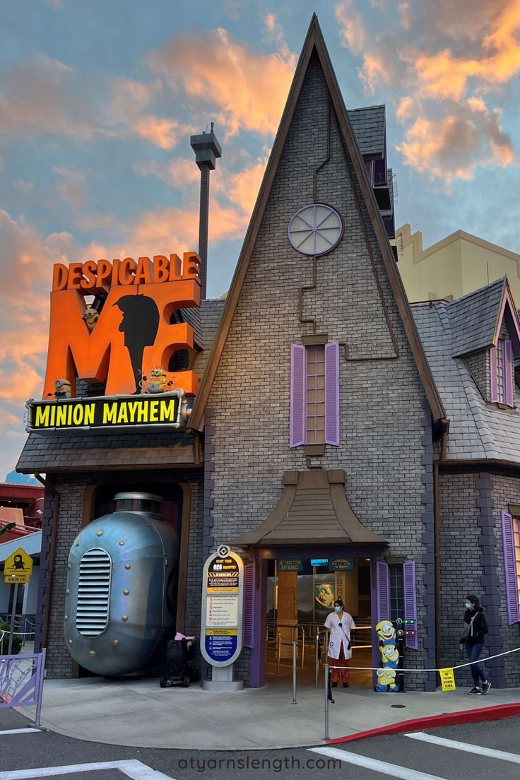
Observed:
[[[2,0],[0,480],[41,395],[52,264],[196,249],[189,135],[211,120],[225,292],[313,11],[347,107],[387,105],[396,225],[520,251],[519,0]]]

